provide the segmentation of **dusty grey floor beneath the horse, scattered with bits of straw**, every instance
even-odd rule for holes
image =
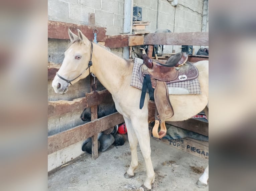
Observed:
[[[131,162],[128,141],[123,146],[111,146],[93,160],[85,153],[76,161],[67,163],[48,176],[49,191],[138,191],[146,177],[145,163],[138,146],[139,166],[135,176],[124,178]],[[155,170],[152,191],[206,191],[198,188],[196,182],[207,160],[169,147],[151,139],[151,159]],[[192,167],[192,168],[191,168]],[[196,169],[195,169],[196,167]]]

